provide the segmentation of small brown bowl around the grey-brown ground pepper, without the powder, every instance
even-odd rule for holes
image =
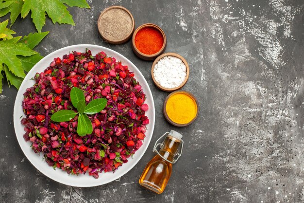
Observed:
[[[102,19],[103,15],[107,14],[107,12],[109,12],[109,11],[112,10],[112,9],[121,9],[121,10],[127,12],[127,13],[129,14],[129,16],[131,17],[131,20],[132,20],[132,28],[131,28],[130,32],[127,33],[124,37],[122,37],[122,38],[120,38],[120,39],[110,39],[110,38],[107,37],[106,35],[103,35],[103,34],[102,34],[102,33],[103,33],[103,32],[102,32],[102,31],[103,31],[103,30],[102,30],[102,29],[103,29],[103,26],[102,26],[102,20],[101,20],[101,19]],[[134,22],[133,15],[132,15],[131,12],[130,12],[128,9],[126,9],[125,7],[122,7],[122,6],[110,6],[110,7],[106,8],[106,9],[104,9],[104,10],[101,12],[101,15],[99,16],[98,21],[97,21],[97,27],[98,27],[98,31],[99,31],[101,37],[102,37],[105,41],[107,41],[107,42],[110,43],[110,44],[122,44],[122,43],[128,41],[128,40],[131,38],[131,36],[132,36],[132,34],[133,34],[133,32],[134,32],[134,29],[135,29],[135,22]]]

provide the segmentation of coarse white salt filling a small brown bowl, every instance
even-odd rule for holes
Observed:
[[[155,64],[153,75],[162,87],[177,88],[186,79],[186,65],[178,57],[165,56]]]

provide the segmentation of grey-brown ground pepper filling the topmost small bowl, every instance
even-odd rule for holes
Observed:
[[[98,26],[101,36],[114,42],[131,37],[134,29],[132,17],[121,8],[110,8],[102,12]]]

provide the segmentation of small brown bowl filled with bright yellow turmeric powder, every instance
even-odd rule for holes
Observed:
[[[187,126],[198,115],[198,103],[195,97],[185,91],[175,91],[168,95],[164,104],[164,115],[174,126]]]

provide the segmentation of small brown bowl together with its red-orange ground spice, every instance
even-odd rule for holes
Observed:
[[[132,49],[139,58],[154,60],[166,49],[164,31],[157,25],[146,23],[139,26],[132,37]]]

